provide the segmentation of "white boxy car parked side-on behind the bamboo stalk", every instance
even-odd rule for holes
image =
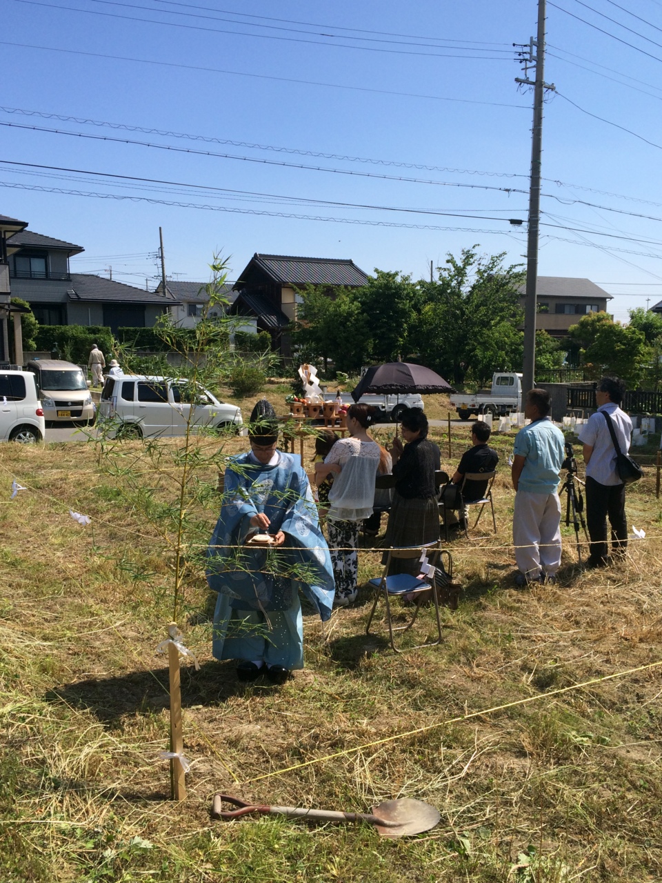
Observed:
[[[137,374],[107,377],[99,404],[100,426],[111,421],[110,434],[123,438],[185,435],[194,409],[193,430],[199,426],[238,430],[243,422],[240,408],[219,402],[199,383],[191,396],[189,382]]]

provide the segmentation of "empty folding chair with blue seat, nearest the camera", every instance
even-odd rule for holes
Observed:
[[[420,560],[421,555],[425,553],[428,555],[429,563],[432,567],[436,568],[439,566],[440,555],[446,554],[448,555],[448,560],[451,562],[450,553],[443,553],[439,547],[439,540],[436,540],[433,543],[427,543],[425,546],[418,546],[416,548],[412,547],[395,547],[388,550],[387,561],[384,565],[384,571],[381,577],[375,577],[374,579],[369,580],[369,584],[373,586],[373,588],[377,589],[375,593],[375,599],[372,603],[372,610],[370,611],[370,615],[368,616],[368,622],[365,626],[365,634],[370,634],[370,625],[372,623],[372,617],[374,616],[375,610],[377,609],[377,604],[379,603],[380,598],[383,598],[386,602],[386,615],[387,615],[387,625],[388,625],[388,638],[390,641],[390,645],[395,651],[395,653],[402,653],[402,650],[398,650],[395,646],[395,631],[408,631],[411,626],[416,622],[416,618],[418,616],[418,611],[421,608],[421,605],[426,600],[426,594],[428,592],[432,595],[433,605],[434,605],[434,614],[437,621],[437,634],[438,638],[436,641],[425,641],[424,644],[417,644],[414,647],[411,647],[412,650],[418,649],[418,647],[426,647],[426,646],[434,646],[441,643],[441,619],[439,612],[439,595],[437,592],[437,580],[433,577],[432,579],[417,579],[417,577],[412,577],[409,573],[396,573],[392,576],[387,576],[388,569],[390,563],[394,559],[402,559],[408,558],[410,560]],[[450,563],[450,568],[452,571],[452,562]],[[391,598],[395,598],[402,595],[407,594],[408,592],[413,592],[415,594],[416,599],[416,607],[414,609],[414,615],[411,617],[410,622],[406,625],[398,625],[394,626],[393,619],[391,616]]]

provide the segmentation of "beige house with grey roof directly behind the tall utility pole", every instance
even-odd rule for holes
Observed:
[[[524,306],[524,289],[520,289],[520,306]],[[536,327],[553,337],[565,337],[568,328],[586,313],[606,313],[611,294],[590,279],[571,276],[538,276],[538,318]]]

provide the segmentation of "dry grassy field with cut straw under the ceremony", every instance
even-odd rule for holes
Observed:
[[[247,419],[250,403],[241,404]],[[452,472],[467,429],[456,427],[451,457],[448,439],[436,437]],[[223,445],[227,453],[245,440]],[[557,585],[516,590],[512,436],[495,445],[498,532],[485,518],[468,542],[453,542],[463,594],[457,611],[443,611],[438,647],[395,656],[380,636],[366,637],[364,587],[323,627],[305,616],[306,668],[290,683],[242,689],[234,666],[211,657],[214,600],[199,570],[186,571],[180,625],[200,670],[182,660],[192,761],[184,804],[169,802],[159,758],[168,675],[155,653],[172,613],[175,467],[165,457],[154,466],[138,442],[109,457],[93,444],[4,445],[3,883],[662,879],[662,669],[599,681],[662,660],[654,470],[628,490],[629,523],[647,536],[631,541],[624,566],[582,573],[564,527]],[[211,465],[195,476],[209,488],[215,478]],[[12,479],[27,490],[11,501]],[[200,500],[196,525],[208,535],[218,499],[210,490]],[[68,509],[92,524],[78,525]],[[362,580],[379,572],[379,551],[364,549]],[[421,620],[419,634],[432,634],[431,611]],[[590,680],[598,683],[553,692]],[[533,701],[446,722],[522,699]],[[371,744],[417,728],[428,729]],[[369,826],[226,823],[209,818],[216,790],[345,811],[412,796],[437,806],[441,822],[399,841]]]

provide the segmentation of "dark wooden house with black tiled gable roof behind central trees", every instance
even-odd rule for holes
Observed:
[[[369,276],[353,260],[297,258],[283,254],[253,254],[234,284],[237,298],[231,312],[254,316],[260,331],[268,331],[274,348],[290,356],[287,328],[297,319],[299,291],[321,285],[329,297],[339,288],[360,288]]]

